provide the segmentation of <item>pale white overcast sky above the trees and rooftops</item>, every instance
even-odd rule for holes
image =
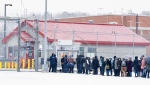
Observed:
[[[106,12],[118,11],[116,13],[127,13],[132,9],[134,13],[140,13],[143,10],[150,11],[149,0],[47,0],[48,12],[55,14],[58,12],[87,12],[89,14],[100,14]],[[44,13],[45,0],[0,0],[0,16],[4,16],[4,4],[12,4],[7,7],[7,16],[20,16],[24,14],[24,8],[27,14]],[[24,5],[24,7],[23,7]],[[99,8],[102,8],[101,10]],[[101,12],[100,12],[101,11]]]

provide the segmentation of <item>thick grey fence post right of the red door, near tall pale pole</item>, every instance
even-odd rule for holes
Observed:
[[[39,57],[39,45],[38,45],[38,20],[35,20],[36,22],[36,40],[35,40],[35,55],[34,55],[34,60],[35,60],[35,71],[38,72],[38,57]]]

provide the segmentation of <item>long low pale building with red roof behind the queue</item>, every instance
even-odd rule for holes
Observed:
[[[130,29],[116,24],[69,23],[48,21],[46,32],[44,21],[25,20],[21,23],[21,57],[34,58],[36,29],[38,29],[39,59],[44,57],[44,37],[47,36],[47,57],[56,53],[58,61],[63,53],[104,57],[146,55],[150,42]],[[37,25],[38,24],[38,25]],[[2,42],[7,46],[7,58],[17,57],[18,27]]]

